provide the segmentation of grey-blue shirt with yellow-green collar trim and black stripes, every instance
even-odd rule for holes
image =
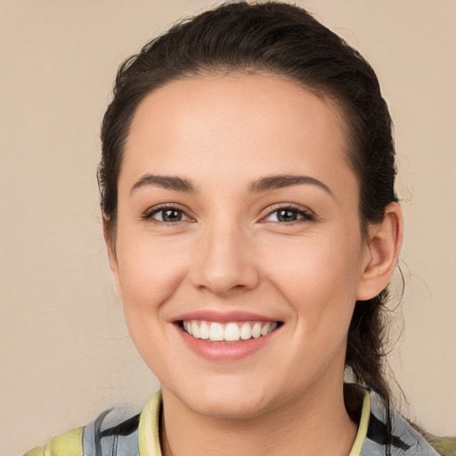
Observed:
[[[103,412],[88,426],[54,437],[45,447],[24,456],[162,456],[159,443],[161,392],[144,410],[126,420],[116,419],[115,410]],[[392,454],[438,456],[430,444],[402,415],[392,413]],[[364,392],[361,419],[348,456],[384,456],[387,443],[385,407],[379,395]]]

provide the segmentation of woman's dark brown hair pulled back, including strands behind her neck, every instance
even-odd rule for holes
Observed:
[[[338,106],[346,153],[359,185],[362,232],[395,201],[395,146],[379,81],[360,53],[302,8],[281,3],[228,3],[183,20],[118,69],[114,98],[102,121],[99,167],[105,229],[115,242],[118,175],[138,104],[170,81],[224,72],[267,72],[302,85]],[[384,372],[386,291],[357,302],[346,366],[389,407]]]

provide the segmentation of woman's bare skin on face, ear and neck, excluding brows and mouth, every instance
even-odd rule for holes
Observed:
[[[128,328],[161,383],[166,456],[350,451],[346,334],[356,299],[377,295],[393,273],[402,219],[392,203],[362,236],[340,118],[330,101],[261,74],[175,81],[136,111],[117,237],[107,239]],[[194,191],[145,183],[147,173],[179,176]],[[250,191],[272,175],[322,185]],[[163,204],[182,220],[163,222]],[[296,220],[279,222],[290,205]],[[208,309],[283,324],[245,359],[208,361],[174,323]]]

